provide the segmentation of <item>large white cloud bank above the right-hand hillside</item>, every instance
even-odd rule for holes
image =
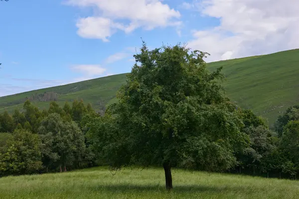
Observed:
[[[206,61],[299,48],[299,1],[194,1],[203,15],[220,19],[210,30],[194,31],[192,49],[211,54]]]

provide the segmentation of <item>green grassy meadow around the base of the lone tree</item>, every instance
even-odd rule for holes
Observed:
[[[0,179],[0,199],[298,199],[298,181],[174,170],[173,191],[162,169],[107,168]]]

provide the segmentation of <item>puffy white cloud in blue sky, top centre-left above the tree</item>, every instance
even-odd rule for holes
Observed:
[[[181,24],[179,11],[161,0],[67,0],[67,4],[97,8],[100,14],[78,19],[78,34],[104,42],[118,30],[130,33],[139,27],[151,30]]]

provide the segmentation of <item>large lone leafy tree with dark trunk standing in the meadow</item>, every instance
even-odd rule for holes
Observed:
[[[219,83],[221,68],[210,73],[206,55],[179,44],[150,51],[143,43],[119,102],[90,130],[112,169],[163,166],[170,190],[172,167],[221,171],[236,163],[246,135]]]

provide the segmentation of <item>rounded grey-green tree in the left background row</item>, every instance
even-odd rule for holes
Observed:
[[[85,152],[84,135],[72,121],[63,121],[58,113],[49,114],[38,129],[43,145],[43,162],[46,168],[57,163],[62,171],[73,162],[80,164]]]

